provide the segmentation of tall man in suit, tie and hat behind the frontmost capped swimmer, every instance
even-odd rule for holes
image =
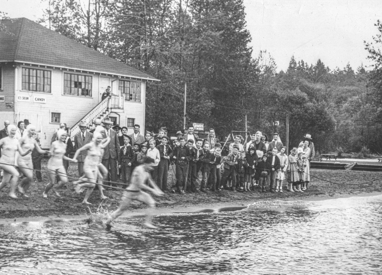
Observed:
[[[111,129],[112,123],[113,122],[108,118],[104,120],[106,136],[110,137],[110,142],[105,147],[104,156],[102,156],[102,164],[104,164],[107,170],[110,169],[110,176],[108,175],[109,179],[112,182],[117,182],[117,159],[120,153],[120,143],[117,133]],[[116,184],[113,183],[113,186],[116,186]]]

